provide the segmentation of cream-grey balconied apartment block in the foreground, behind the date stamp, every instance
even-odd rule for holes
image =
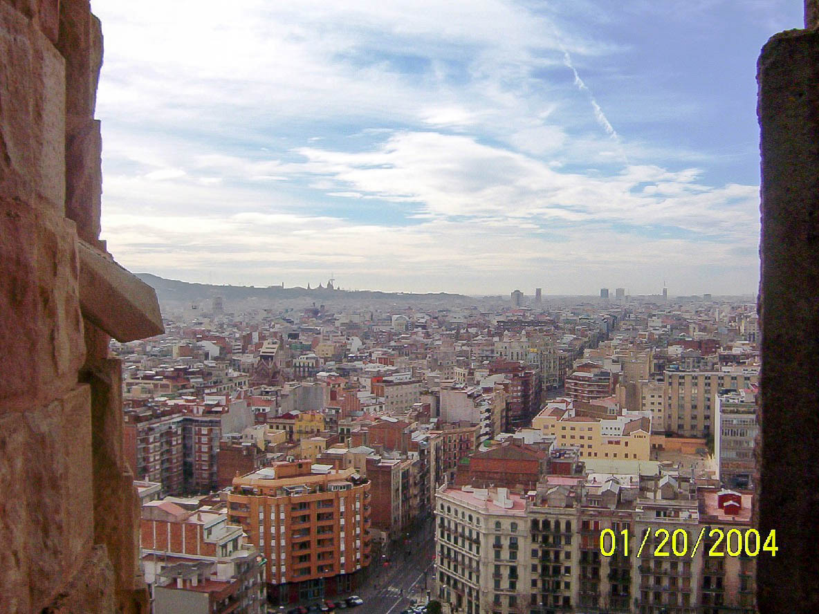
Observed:
[[[526,494],[442,487],[435,590],[457,612],[753,614],[754,559],[744,552],[709,557],[711,539],[693,557],[654,556],[654,549],[671,548],[659,529],[677,530],[678,548],[685,531],[687,553],[703,528],[744,535],[751,497],[696,489],[686,476],[669,474],[548,476]],[[610,557],[600,551],[604,530],[619,540]]]

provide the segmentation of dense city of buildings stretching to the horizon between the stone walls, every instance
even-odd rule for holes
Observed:
[[[153,612],[754,612],[744,550],[600,541],[752,527],[753,298],[187,292],[111,344]]]

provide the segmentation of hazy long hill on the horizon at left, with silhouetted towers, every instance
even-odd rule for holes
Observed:
[[[428,292],[419,294],[414,292],[381,292],[373,290],[328,290],[327,288],[303,287],[283,288],[281,286],[215,286],[208,283],[180,282],[175,279],[165,279],[151,273],[137,273],[154,290],[160,302],[179,301],[194,303],[209,300],[214,296],[221,296],[225,301],[247,300],[252,298],[266,300],[287,300],[310,298],[312,300],[468,300],[462,294],[447,292]]]

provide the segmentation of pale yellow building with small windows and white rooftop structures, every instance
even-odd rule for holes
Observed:
[[[558,399],[537,414],[532,428],[553,436],[555,445],[577,446],[581,458],[648,460],[651,452],[651,418],[636,412],[597,413]]]

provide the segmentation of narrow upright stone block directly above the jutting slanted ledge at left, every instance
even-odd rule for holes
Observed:
[[[100,233],[102,136],[97,120],[81,120],[66,135],[66,217],[79,238],[93,242]]]

